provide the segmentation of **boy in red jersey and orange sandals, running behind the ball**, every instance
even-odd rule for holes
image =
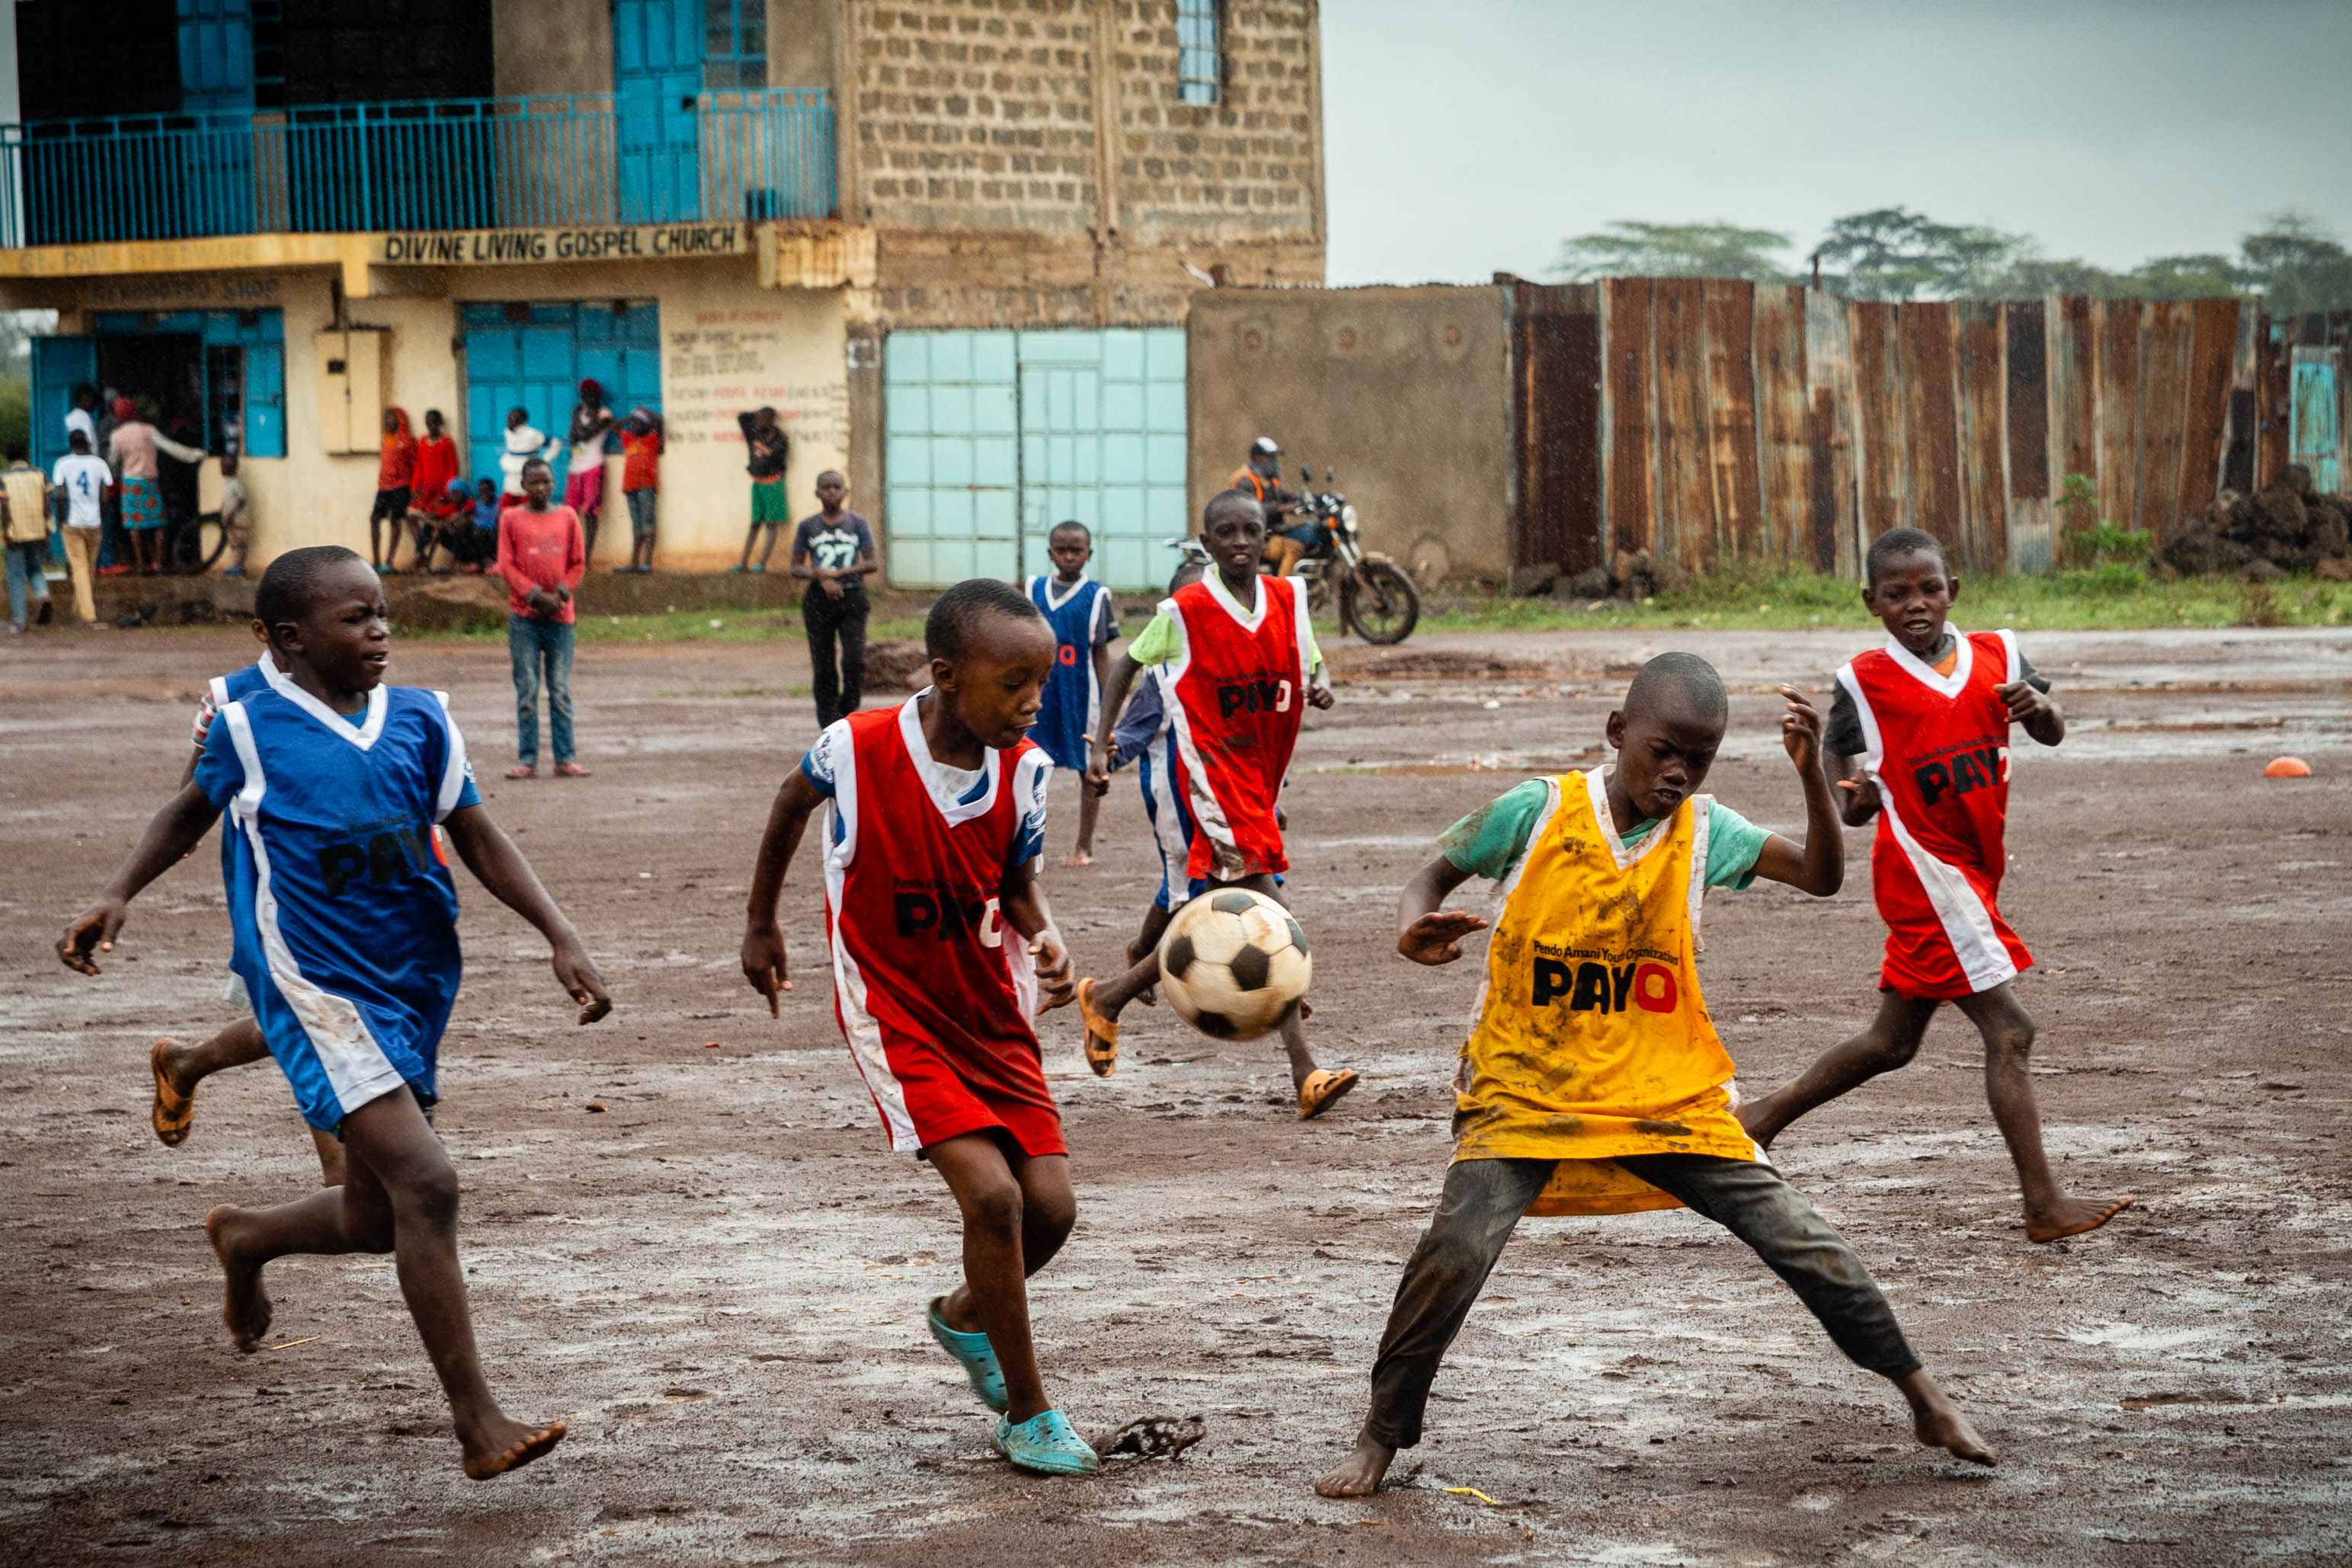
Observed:
[[[1087,769],[1091,788],[1110,780],[1110,733],[1136,672],[1167,663],[1162,691],[1176,741],[1174,788],[1192,813],[1192,893],[1244,886],[1282,900],[1275,882],[1289,870],[1277,802],[1298,745],[1305,708],[1331,705],[1331,679],[1315,646],[1303,578],[1261,578],[1265,508],[1240,491],[1214,496],[1200,517],[1216,571],[1160,602],[1160,616],[1127,644],[1103,696],[1101,733]],[[1244,609],[1247,604],[1247,609]],[[1171,886],[1171,903],[1183,903]],[[1080,980],[1087,1065],[1110,1077],[1120,1065],[1120,1011],[1157,985],[1160,954],[1148,952],[1124,976]],[[1319,1117],[1355,1088],[1355,1072],[1327,1072],[1308,1056],[1305,1009],[1282,1018],[1298,1117]]]

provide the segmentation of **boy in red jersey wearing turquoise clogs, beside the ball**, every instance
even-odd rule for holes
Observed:
[[[964,1284],[931,1300],[931,1338],[1002,1413],[1007,1460],[1084,1474],[1101,1462],[1047,1403],[1023,1284],[1077,1218],[1030,1023],[1040,987],[1047,1009],[1070,999],[1070,952],[1037,886],[1051,764],[1025,738],[1054,632],[1028,595],[990,581],[943,592],[922,630],[931,684],[826,726],[776,792],[743,973],[779,1013],[793,983],[776,893],[823,811],[833,1016],[891,1150],[931,1161],[964,1215]]]

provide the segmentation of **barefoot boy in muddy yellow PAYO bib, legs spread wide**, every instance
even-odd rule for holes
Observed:
[[[1501,884],[1501,912],[1454,1074],[1454,1166],[1404,1265],[1364,1432],[1315,1483],[1322,1495],[1369,1495],[1397,1448],[1421,1441],[1437,1363],[1522,1213],[1708,1215],[1797,1291],[1856,1366],[1903,1389],[1922,1443],[1992,1465],[1870,1272],[1731,1114],[1731,1056],[1698,990],[1700,898],[1757,877],[1825,898],[1846,867],[1820,715],[1795,686],[1780,693],[1804,844],[1698,795],[1731,705],[1703,658],[1661,654],[1609,715],[1613,769],[1503,795],[1456,823],[1404,889],[1397,952],[1416,964],[1451,964],[1486,926],[1439,910],[1468,877]]]

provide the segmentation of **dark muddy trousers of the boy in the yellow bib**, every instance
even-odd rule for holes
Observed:
[[[1446,1171],[1437,1215],[1404,1262],[1381,1356],[1371,1363],[1371,1418],[1364,1422],[1371,1439],[1390,1448],[1421,1441],[1421,1413],[1430,1403],[1437,1363],[1470,1316],[1470,1302],[1486,1286],[1519,1215],[1552,1180],[1555,1164],[1463,1159]],[[1905,1345],[1870,1269],[1778,1171],[1712,1154],[1635,1154],[1618,1164],[1752,1246],[1811,1307],[1849,1361],[1884,1378],[1919,1371],[1919,1356]]]

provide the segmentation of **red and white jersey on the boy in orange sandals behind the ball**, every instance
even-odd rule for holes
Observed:
[[[1192,877],[1237,882],[1289,870],[1275,802],[1298,745],[1315,628],[1305,578],[1256,578],[1244,611],[1214,571],[1160,602],[1183,628],[1162,689],[1176,736],[1176,788],[1192,806]]]

